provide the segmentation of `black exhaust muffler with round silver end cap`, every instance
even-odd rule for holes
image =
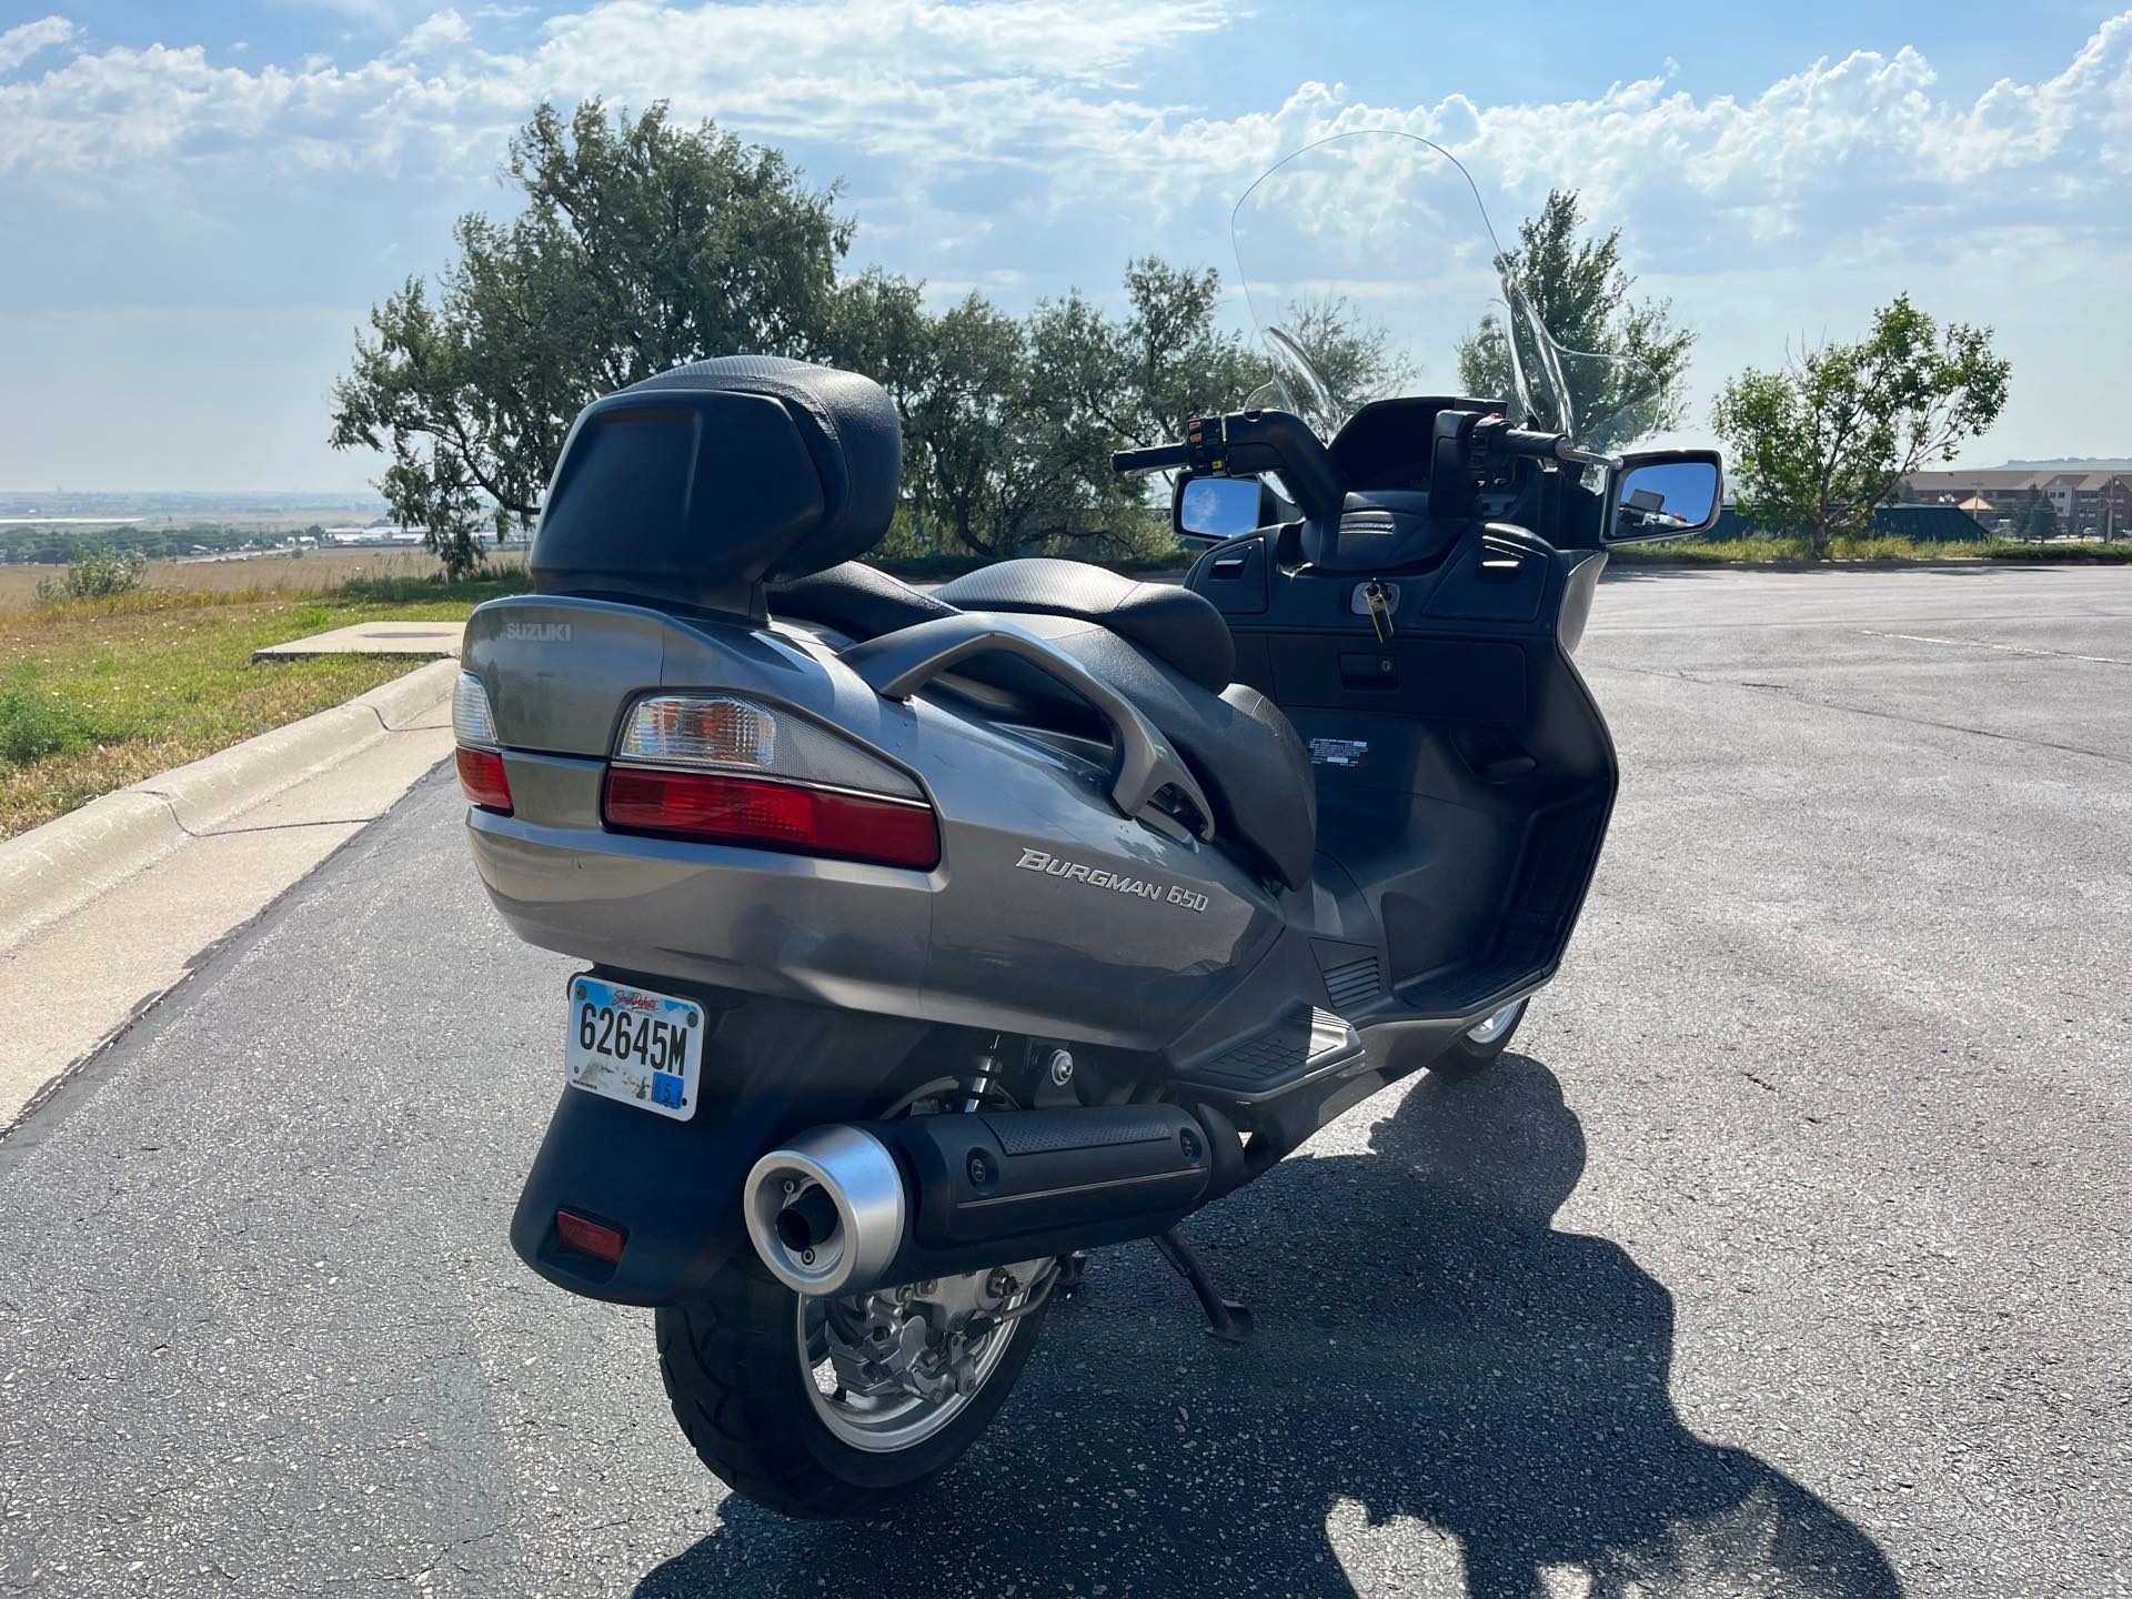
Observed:
[[[748,1241],[802,1294],[866,1294],[1166,1232],[1207,1192],[1175,1104],[921,1115],[808,1128],[755,1162]]]

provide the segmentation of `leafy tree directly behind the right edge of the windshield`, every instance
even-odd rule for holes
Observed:
[[[1586,235],[1578,192],[1550,190],[1539,215],[1518,224],[1518,243],[1499,266],[1561,354],[1550,362],[1516,309],[1490,311],[1458,348],[1467,394],[1516,399],[1516,365],[1539,420],[1597,450],[1680,426],[1680,377],[1695,335],[1674,326],[1669,301],[1629,298],[1635,277],[1620,264],[1620,228]],[[1567,394],[1556,392],[1550,367]]]

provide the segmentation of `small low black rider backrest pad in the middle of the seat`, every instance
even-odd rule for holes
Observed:
[[[1049,612],[1100,623],[1213,693],[1237,674],[1228,618],[1205,595],[1134,582],[1083,561],[1002,561],[942,584],[940,599],[962,610]]]

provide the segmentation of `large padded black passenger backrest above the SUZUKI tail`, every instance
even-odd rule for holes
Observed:
[[[533,580],[755,610],[757,584],[874,548],[900,475],[895,407],[872,379],[778,356],[697,360],[578,416]]]

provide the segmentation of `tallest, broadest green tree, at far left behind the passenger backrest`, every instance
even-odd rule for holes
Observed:
[[[840,318],[851,222],[774,149],[586,100],[512,139],[524,209],[465,215],[435,294],[409,277],[371,311],[335,384],[330,441],[390,456],[390,514],[446,571],[529,524],[571,418],[595,397],[714,354],[817,356]],[[874,292],[870,286],[861,292]]]

